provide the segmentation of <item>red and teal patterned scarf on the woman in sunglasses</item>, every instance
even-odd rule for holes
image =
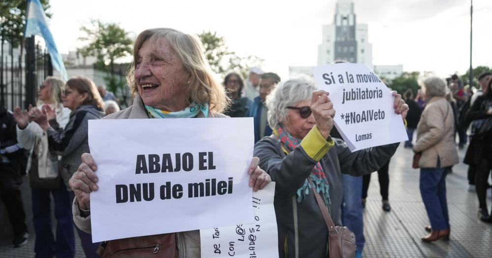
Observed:
[[[293,151],[299,144],[301,143],[300,139],[297,139],[289,134],[282,125],[277,127],[278,139],[283,145],[288,148],[290,151]],[[289,151],[289,152],[290,152]],[[330,193],[329,193],[329,185],[328,180],[326,179],[325,172],[323,172],[323,168],[321,167],[321,163],[316,163],[314,168],[311,170],[311,174],[309,175],[311,178],[314,187],[316,188],[316,192],[322,193],[323,199],[327,207],[330,207]],[[297,202],[303,201],[306,196],[309,194],[309,189],[311,188],[311,184],[306,179],[304,181],[304,185],[297,190]]]

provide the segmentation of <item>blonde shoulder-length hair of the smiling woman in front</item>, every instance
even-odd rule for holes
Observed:
[[[132,95],[138,94],[134,77],[138,51],[146,40],[156,42],[162,38],[169,40],[171,47],[183,63],[184,70],[191,75],[189,84],[186,85],[189,96],[188,104],[191,102],[208,103],[211,111],[221,113],[229,105],[230,99],[226,96],[224,87],[215,81],[200,39],[176,29],[146,29],[138,35],[133,46],[133,63],[126,75]]]

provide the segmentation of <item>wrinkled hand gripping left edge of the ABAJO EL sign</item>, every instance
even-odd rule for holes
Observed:
[[[74,192],[79,202],[79,207],[87,210],[91,208],[91,192],[97,191],[98,187],[96,183],[99,179],[95,174],[97,166],[91,154],[84,153],[81,159],[82,164],[80,164],[77,172],[72,175],[68,181],[68,185]]]

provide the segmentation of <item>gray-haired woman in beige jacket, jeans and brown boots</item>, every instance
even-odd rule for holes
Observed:
[[[458,163],[458,151],[453,108],[445,98],[446,84],[440,78],[432,77],[424,81],[422,90],[429,102],[417,125],[417,142],[413,150],[422,153],[419,160],[420,194],[431,221],[431,226],[425,228],[431,234],[423,236],[422,240],[431,242],[449,239],[446,175],[451,166]]]

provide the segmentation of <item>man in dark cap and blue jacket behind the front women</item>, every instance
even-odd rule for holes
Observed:
[[[272,128],[270,128],[267,121],[268,108],[265,105],[265,100],[279,82],[280,76],[276,73],[264,73],[261,75],[259,82],[260,95],[254,98],[253,103],[246,112],[246,117],[254,117],[254,143],[264,136],[272,134]]]

